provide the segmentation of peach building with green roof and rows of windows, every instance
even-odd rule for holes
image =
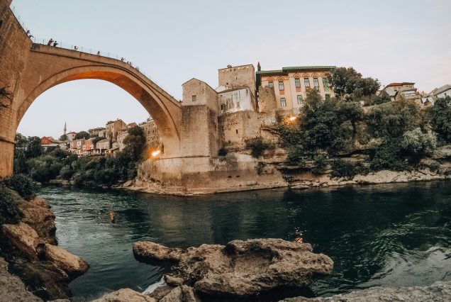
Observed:
[[[278,111],[299,113],[303,106],[307,89],[316,89],[323,98],[332,97],[333,90],[328,84],[328,74],[335,66],[282,67],[280,70],[257,71],[257,87],[274,88]]]

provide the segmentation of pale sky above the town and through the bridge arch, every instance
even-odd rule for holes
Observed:
[[[192,77],[218,86],[217,69],[253,64],[354,67],[365,77],[451,84],[451,0],[13,0],[37,38],[126,57],[177,99]],[[60,84],[30,106],[18,131],[57,138],[148,113],[117,86]]]

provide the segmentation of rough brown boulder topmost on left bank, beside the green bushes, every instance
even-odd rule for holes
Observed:
[[[22,203],[20,208],[23,213],[22,222],[30,225],[45,242],[56,245],[55,214],[50,210],[48,202],[43,198],[35,197]]]

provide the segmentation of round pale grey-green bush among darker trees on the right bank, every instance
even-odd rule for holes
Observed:
[[[401,140],[401,148],[411,161],[417,162],[430,155],[437,147],[437,138],[432,133],[423,133],[421,128],[406,131]]]

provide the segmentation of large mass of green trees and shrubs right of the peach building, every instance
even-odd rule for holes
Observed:
[[[329,167],[333,177],[350,178],[415,169],[436,147],[451,142],[450,97],[429,108],[408,99],[390,101],[384,92],[376,94],[377,79],[362,78],[352,68],[335,69],[329,82],[334,98],[310,89],[299,116],[279,123],[287,164],[315,174]]]

